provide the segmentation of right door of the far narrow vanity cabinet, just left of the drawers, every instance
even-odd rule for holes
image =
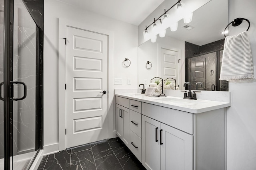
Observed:
[[[122,141],[130,149],[130,109],[122,107],[122,119],[123,119],[123,130],[122,130]]]

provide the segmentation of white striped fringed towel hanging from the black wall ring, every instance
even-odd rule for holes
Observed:
[[[252,80],[252,51],[247,31],[225,39],[220,80]]]

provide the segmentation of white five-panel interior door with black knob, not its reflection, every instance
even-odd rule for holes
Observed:
[[[66,147],[107,139],[107,115],[108,35],[66,27]]]

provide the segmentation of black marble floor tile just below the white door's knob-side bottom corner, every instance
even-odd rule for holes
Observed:
[[[102,158],[113,154],[111,147],[108,145],[108,141],[101,141],[91,144],[94,159]]]

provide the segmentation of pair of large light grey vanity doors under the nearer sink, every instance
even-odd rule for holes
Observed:
[[[148,170],[192,170],[193,137],[142,115],[142,164]]]

